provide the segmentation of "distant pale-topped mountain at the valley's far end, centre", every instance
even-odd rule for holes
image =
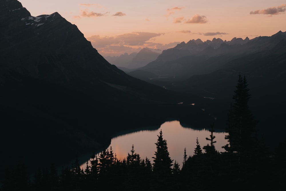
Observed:
[[[128,68],[133,69],[133,68],[143,67],[149,62],[156,60],[156,58],[161,53],[162,53],[161,50],[142,48],[142,50],[140,50],[138,54],[131,60],[131,63],[129,64]]]

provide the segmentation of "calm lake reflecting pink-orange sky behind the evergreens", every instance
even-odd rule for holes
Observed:
[[[139,154],[141,159],[148,157],[151,163],[153,163],[152,157],[154,157],[156,151],[155,143],[157,142],[157,135],[159,135],[160,130],[162,130],[163,139],[167,141],[171,159],[174,162],[176,160],[180,164],[180,168],[182,167],[184,148],[186,147],[186,154],[192,156],[196,147],[197,137],[201,148],[204,145],[210,144],[210,141],[206,140],[206,137],[210,138],[208,130],[182,127],[179,121],[168,121],[156,130],[143,130],[114,137],[108,149],[112,147],[117,158],[123,160],[127,157],[128,153],[131,154],[130,150],[132,149],[132,145],[134,145],[135,153]],[[227,144],[227,140],[225,140],[225,135],[227,134],[222,130],[215,129],[215,131],[215,141],[217,141],[215,147],[220,152],[225,151],[221,147]],[[84,163],[81,168],[85,169],[85,166],[86,164]]]

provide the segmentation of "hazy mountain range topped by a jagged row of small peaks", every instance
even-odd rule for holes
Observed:
[[[168,78],[174,78],[172,80],[176,81],[184,80],[194,74],[214,71],[219,64],[212,64],[213,66],[210,67],[200,63],[217,62],[223,64],[231,59],[230,56],[233,57],[233,54],[236,54],[235,51],[232,54],[227,52],[229,46],[237,48],[249,41],[249,38],[245,38],[245,40],[233,38],[231,41],[213,38],[212,41],[207,40],[205,42],[200,39],[190,40],[187,43],[181,42],[174,48],[163,50],[156,60],[138,69],[152,72],[158,76],[166,76],[165,80]],[[225,54],[229,54],[229,56],[225,56]],[[145,79],[147,80],[148,77],[146,76]]]

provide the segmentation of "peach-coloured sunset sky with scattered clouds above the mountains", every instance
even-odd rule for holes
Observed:
[[[32,16],[58,12],[102,56],[165,50],[180,42],[286,31],[286,0],[19,0]]]

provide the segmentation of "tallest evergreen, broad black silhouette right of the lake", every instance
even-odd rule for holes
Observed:
[[[255,134],[257,121],[254,119],[248,101],[251,98],[249,94],[248,82],[245,76],[242,78],[239,74],[238,83],[236,85],[235,94],[233,96],[234,104],[231,105],[227,116],[227,129],[225,139],[229,144],[223,148],[229,153],[238,155],[240,158],[249,156],[255,145]]]

